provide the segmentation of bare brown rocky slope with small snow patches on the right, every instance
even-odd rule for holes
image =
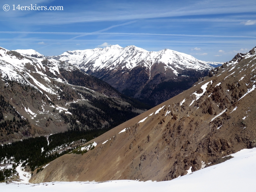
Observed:
[[[172,180],[256,146],[256,47],[170,100],[52,161],[31,182]]]

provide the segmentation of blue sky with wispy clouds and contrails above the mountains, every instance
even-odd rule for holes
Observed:
[[[226,62],[256,46],[256,1],[0,0],[0,46],[44,55],[111,44]],[[10,5],[4,11],[4,4]],[[63,11],[15,10],[63,6]]]

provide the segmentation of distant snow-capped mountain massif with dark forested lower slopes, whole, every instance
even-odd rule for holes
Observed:
[[[67,51],[49,58],[69,62],[125,95],[154,106],[190,88],[208,74],[209,64],[216,64],[169,49],[149,52],[134,45]]]

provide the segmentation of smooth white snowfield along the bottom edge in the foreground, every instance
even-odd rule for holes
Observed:
[[[243,149],[224,163],[184,175],[170,181],[141,182],[135,180],[111,180],[105,182],[48,182],[38,184],[0,183],[1,191],[45,192],[216,192],[255,191],[256,148]],[[202,163],[203,165],[203,163]],[[53,185],[54,184],[54,185]]]

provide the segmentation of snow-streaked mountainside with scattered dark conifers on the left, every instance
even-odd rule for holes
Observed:
[[[148,108],[73,65],[34,50],[0,47],[0,73],[0,142],[69,128],[112,128]]]

